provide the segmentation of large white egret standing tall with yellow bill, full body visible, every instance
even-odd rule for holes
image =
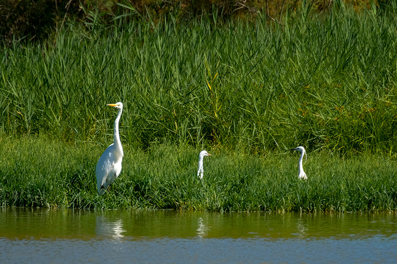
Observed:
[[[98,163],[96,163],[95,176],[99,195],[103,195],[106,189],[119,176],[121,162],[124,156],[123,146],[121,145],[119,136],[119,121],[123,112],[123,104],[118,102],[116,104],[109,104],[108,106],[116,107],[119,109],[119,113],[115,120],[114,143],[105,150],[101,158],[99,158]]]

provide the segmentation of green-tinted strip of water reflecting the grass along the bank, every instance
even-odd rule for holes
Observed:
[[[397,236],[396,213],[215,213],[0,209],[11,239],[343,239]]]

